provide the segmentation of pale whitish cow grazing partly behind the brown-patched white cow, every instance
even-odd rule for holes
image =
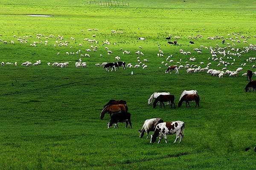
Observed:
[[[142,128],[139,129],[140,138],[143,138],[144,133],[146,132],[147,139],[148,139],[149,132],[154,131],[156,126],[159,123],[163,123],[163,119],[161,119],[161,118],[146,119]]]

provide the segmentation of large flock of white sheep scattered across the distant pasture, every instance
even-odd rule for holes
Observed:
[[[81,30],[83,31],[83,30]],[[88,31],[98,31],[98,29],[94,28],[91,29],[89,28]],[[112,33],[122,33],[122,31],[115,31],[112,30]],[[0,35],[1,36],[1,35]],[[232,37],[235,36],[235,37]],[[17,42],[20,42],[21,44],[26,44],[28,42],[30,42],[30,39],[33,37],[32,35],[29,36],[23,36],[23,37],[17,37],[16,35],[13,36],[14,38],[17,38]],[[92,35],[93,38],[96,37],[96,34]],[[202,38],[202,35],[197,35],[195,37],[188,37],[188,39],[195,39],[197,40],[198,38]],[[256,37],[256,36],[253,36]],[[168,37],[168,40],[170,40],[172,38],[172,35],[170,34]],[[32,43],[30,43],[30,46],[32,47],[36,47],[38,44],[43,44],[45,46],[48,45],[48,39],[55,39],[55,43],[53,44],[53,46],[55,48],[58,47],[66,47],[66,48],[70,48],[72,49],[73,47],[70,45],[70,42],[67,40],[64,40],[63,36],[54,36],[52,34],[50,34],[49,36],[44,36],[44,34],[36,34],[36,39],[38,41],[34,41],[31,40]],[[45,40],[42,40],[45,39]],[[167,39],[167,38],[166,38]],[[181,38],[178,36],[174,37],[175,40],[180,40]],[[240,71],[243,70],[242,67],[246,66],[246,65],[250,65],[251,64],[251,68],[256,68],[255,63],[256,62],[256,57],[249,57],[248,59],[244,60],[243,63],[239,64],[242,67],[237,68],[236,70],[229,70],[228,67],[229,65],[234,65],[234,63],[236,62],[236,60],[238,58],[240,58],[242,55],[244,55],[245,53],[248,53],[250,51],[256,51],[256,45],[253,44],[248,44],[247,40],[250,39],[249,36],[245,37],[244,35],[240,35],[239,33],[232,33],[232,34],[227,34],[227,37],[225,38],[224,36],[215,36],[215,37],[208,37],[207,40],[210,41],[214,41],[214,40],[222,40],[222,44],[224,45],[224,47],[220,47],[218,44],[216,44],[214,47],[207,47],[204,45],[200,45],[200,48],[194,48],[193,50],[195,51],[195,54],[201,55],[202,53],[205,55],[205,52],[202,49],[205,49],[207,51],[209,51],[209,54],[207,53],[207,61],[208,63],[204,63],[204,62],[198,62],[198,59],[192,55],[191,51],[185,51],[183,49],[180,49],[180,54],[184,55],[184,56],[188,56],[186,59],[177,59],[177,57],[175,56],[175,54],[173,55],[169,55],[164,61],[161,62],[161,64],[165,65],[166,67],[168,67],[169,65],[177,65],[177,68],[186,69],[186,73],[197,73],[197,72],[204,72],[206,71],[208,74],[211,74],[212,76],[218,76],[218,77],[223,77],[224,75],[229,75],[230,77],[232,76],[237,76],[239,74]],[[70,37],[71,41],[75,41],[74,37]],[[145,40],[145,38],[140,37],[138,40]],[[81,58],[83,57],[91,57],[94,56],[93,52],[98,51],[99,47],[96,44],[99,44],[100,42],[98,40],[95,39],[90,39],[90,38],[85,38],[84,41],[87,41],[88,43],[90,43],[90,48],[87,49],[79,49],[78,51],[66,51],[66,55],[79,55]],[[225,41],[229,41],[229,42],[225,42]],[[4,40],[0,40],[0,42],[3,42],[5,44],[8,44],[8,41],[4,41]],[[11,44],[14,44],[15,41],[11,40],[10,41]],[[235,43],[241,43],[243,42],[245,44],[244,47],[242,48],[235,48],[236,44]],[[191,41],[190,41],[191,43]],[[193,42],[194,43],[194,42]],[[107,55],[107,56],[112,56],[113,55],[113,51],[111,51],[109,48],[109,45],[116,45],[116,43],[111,43],[108,40],[105,40],[104,42],[102,42],[102,46],[104,46],[105,49],[105,54],[100,54],[99,57],[103,57],[103,55]],[[247,45],[248,44],[248,45]],[[82,48],[83,44],[79,43],[79,47]],[[165,53],[163,52],[163,50],[161,49],[160,45],[158,45],[158,48],[160,48],[159,53],[157,53],[157,57],[160,57],[161,59],[163,57],[165,57]],[[137,56],[137,61],[135,61],[134,59],[134,64],[132,63],[128,63],[125,67],[126,68],[143,68],[146,69],[148,68],[148,59],[143,58],[140,59],[141,57],[144,57],[144,53],[141,51],[143,48],[141,46],[139,46],[140,50],[137,50],[134,52],[134,54]],[[122,48],[119,49],[120,51],[122,51],[123,55],[129,55],[132,54],[131,51],[128,50],[123,50]],[[82,51],[86,51],[86,53],[84,54]],[[61,53],[58,52],[57,55],[60,55]],[[121,55],[122,55],[121,54]],[[202,55],[203,55],[202,54]],[[176,54],[178,56],[178,54]],[[175,56],[175,57],[174,57]],[[88,65],[86,62],[82,62],[81,58],[78,59],[75,63],[75,67],[79,68],[79,67],[83,67],[86,68]],[[201,57],[200,57],[201,58]],[[121,60],[120,56],[114,56],[113,60]],[[175,63],[176,60],[176,63]],[[144,62],[144,63],[143,63]],[[52,65],[52,66],[56,66],[56,67],[60,67],[60,68],[66,68],[67,66],[69,66],[70,62],[47,62],[47,65]],[[106,63],[108,62],[103,62],[102,64],[100,63],[96,63],[95,65],[97,67],[99,66],[104,66]],[[12,62],[1,62],[1,65],[12,65]],[[41,65],[41,60],[38,60],[34,63],[26,61],[23,62],[21,65],[24,66],[37,66],[37,65]],[[220,69],[213,69],[210,68],[212,65],[216,65],[216,67],[220,67]],[[15,66],[17,66],[17,62],[15,62]],[[161,68],[161,67],[159,67]],[[171,72],[170,72],[171,73]],[[253,72],[256,75],[256,71]],[[246,73],[242,74],[243,76],[246,76]]]

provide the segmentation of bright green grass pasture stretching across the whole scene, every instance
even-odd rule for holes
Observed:
[[[235,48],[256,44],[256,3],[253,0],[130,0],[129,7],[106,7],[87,5],[83,0],[1,0],[0,1],[0,62],[17,62],[18,65],[0,67],[0,169],[225,169],[254,170],[256,165],[253,149],[256,145],[256,94],[245,93],[246,78],[241,74],[252,68],[246,62],[255,57],[255,51],[234,57],[235,71],[246,62],[238,77],[211,77],[206,72],[186,74],[164,74],[161,64],[168,55],[174,62],[195,56],[199,65],[206,67],[209,50],[197,54],[193,48],[200,45],[221,47],[221,40],[207,37],[240,33],[250,36],[248,44],[236,43]],[[49,14],[53,17],[29,17],[26,14]],[[87,31],[98,28],[99,31]],[[81,31],[84,30],[84,31]],[[123,31],[113,34],[111,30]],[[68,47],[54,47],[55,39],[48,45],[29,44],[36,34],[64,37]],[[90,48],[84,38],[98,40],[97,52],[84,57],[88,68],[75,68],[80,55],[66,55]],[[178,45],[167,44],[169,34],[180,36]],[[203,35],[190,45],[188,36]],[[27,44],[14,38],[29,36]],[[236,37],[231,35],[232,37]],[[70,40],[74,37],[75,40]],[[145,37],[145,41],[137,40]],[[11,40],[15,43],[11,44]],[[41,41],[46,39],[42,37]],[[111,45],[102,45],[108,40]],[[239,40],[243,40],[239,36]],[[116,45],[113,43],[116,42]],[[230,42],[230,41],[227,41]],[[83,46],[79,47],[79,43]],[[233,42],[230,42],[233,43]],[[95,45],[95,44],[93,44]],[[157,57],[158,45],[164,58]],[[72,46],[73,48],[70,48]],[[105,46],[113,54],[108,57]],[[143,49],[139,49],[142,46]],[[131,51],[123,55],[123,50]],[[180,49],[191,51],[185,56]],[[126,63],[137,64],[135,51],[144,53],[141,60],[148,59],[148,69],[127,68],[107,72],[95,67],[95,63],[114,62],[120,56]],[[57,53],[60,52],[60,55]],[[103,57],[99,57],[103,54]],[[220,57],[220,56],[218,56]],[[42,64],[24,67],[22,62],[41,59]],[[67,68],[48,66],[47,62],[70,62]],[[210,68],[218,61],[210,61]],[[232,61],[231,61],[232,62]],[[166,63],[166,61],[165,61]],[[169,62],[168,62],[169,63]],[[189,62],[192,64],[192,62]],[[161,67],[161,68],[159,68]],[[131,75],[131,71],[134,75]],[[253,77],[255,79],[255,76]],[[156,91],[167,91],[175,95],[177,105],[183,90],[195,89],[200,96],[200,108],[169,109],[152,108],[147,104]],[[99,119],[109,99],[124,99],[128,103],[133,129],[107,129],[109,115]],[[167,136],[169,143],[150,144],[150,139],[139,138],[138,129],[145,119],[161,117],[164,121],[185,122],[185,137],[180,144],[173,144],[174,136]]]

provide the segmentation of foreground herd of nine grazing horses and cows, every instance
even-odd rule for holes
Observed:
[[[175,108],[174,103],[174,95],[171,95],[167,92],[158,93],[155,92],[150,96],[148,99],[148,105],[151,104],[152,100],[155,99],[153,102],[153,108],[157,106],[157,103],[160,102],[160,107],[165,107],[165,102],[167,102],[167,105],[169,104],[170,107]],[[198,92],[195,90],[191,91],[183,91],[183,93],[180,96],[178,107],[182,105],[183,102],[186,102],[189,105],[189,101],[195,101],[195,107],[198,105],[199,107],[199,96]],[[190,107],[190,105],[189,105]],[[103,119],[105,116],[105,113],[110,114],[110,122],[108,122],[108,128],[111,128],[114,125],[114,128],[118,127],[119,122],[125,122],[126,127],[131,124],[131,113],[128,112],[128,106],[125,100],[110,100],[106,105],[103,106],[103,110],[100,114],[100,119]],[[150,131],[154,131],[154,134],[151,135],[151,143],[154,143],[157,140],[157,137],[159,137],[158,143],[160,143],[161,139],[164,137],[165,142],[167,143],[167,137],[168,134],[176,134],[176,138],[174,143],[177,141],[177,139],[180,139],[179,142],[182,141],[184,137],[184,128],[185,123],[181,121],[175,121],[175,122],[163,122],[163,119],[161,118],[153,118],[153,119],[147,119],[145,120],[143,127],[139,130],[140,138],[144,136],[144,133],[147,134],[147,138]]]

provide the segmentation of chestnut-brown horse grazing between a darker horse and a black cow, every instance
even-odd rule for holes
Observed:
[[[108,105],[106,106],[102,112],[100,113],[100,119],[103,119],[105,116],[105,113],[109,113],[109,115],[111,116],[112,113],[127,113],[127,109],[128,107],[124,104],[119,104],[119,105]]]

